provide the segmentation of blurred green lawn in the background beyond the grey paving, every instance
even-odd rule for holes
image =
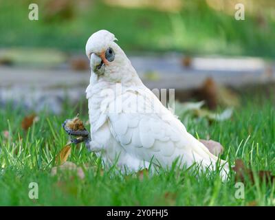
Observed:
[[[39,21],[28,5],[39,5]],[[245,21],[234,5],[245,5]],[[178,51],[274,57],[275,1],[265,0],[0,0],[0,47],[85,50],[107,29],[127,52]]]

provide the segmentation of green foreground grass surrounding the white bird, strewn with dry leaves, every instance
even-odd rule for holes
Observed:
[[[255,98],[253,102],[244,98],[242,103],[232,120],[208,124],[206,119],[185,115],[186,127],[193,135],[210,135],[221,142],[225,146],[222,157],[230,163],[239,157],[254,170],[274,173],[274,107],[267,100],[257,104]],[[27,132],[22,131],[21,120],[30,112],[12,107],[0,110],[0,131],[11,134],[9,139],[0,136],[0,205],[248,206],[252,201],[258,206],[274,205],[275,184],[247,182],[245,199],[236,199],[234,175],[222,182],[217,173],[195,177],[193,171],[175,167],[143,179],[134,174],[120,175],[115,168],[102,172],[98,159],[83,144],[73,147],[68,161],[83,167],[85,179],[72,172],[53,177],[50,170],[55,166],[54,157],[67,142],[61,123],[76,114],[76,109],[68,109],[65,106],[62,115],[39,113],[39,121]],[[87,120],[85,108],[77,111]],[[28,197],[30,182],[39,184],[39,199]]]

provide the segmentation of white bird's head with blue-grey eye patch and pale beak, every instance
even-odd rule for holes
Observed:
[[[121,82],[131,62],[123,50],[114,42],[115,35],[107,30],[92,34],[86,44],[86,54],[92,72],[98,77],[115,83]],[[133,67],[132,67],[133,68]]]

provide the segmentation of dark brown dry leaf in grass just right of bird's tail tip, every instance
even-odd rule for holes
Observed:
[[[236,172],[235,181],[245,182],[245,177],[248,177],[252,184],[255,183],[255,178],[258,178],[260,182],[275,182],[275,176],[272,175],[271,171],[259,170],[253,173],[250,168],[246,168],[243,160],[236,159],[233,170]]]

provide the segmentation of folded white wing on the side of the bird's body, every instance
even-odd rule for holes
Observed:
[[[120,111],[110,111],[107,117],[111,133],[130,155],[147,162],[153,158],[161,166],[170,166],[177,157],[187,166],[199,162],[206,168],[217,162],[149,89],[130,89],[120,100]]]

